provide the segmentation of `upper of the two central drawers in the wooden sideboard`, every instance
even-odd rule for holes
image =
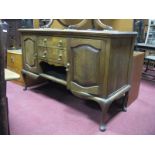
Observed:
[[[37,46],[66,48],[66,39],[61,37],[39,36]]]

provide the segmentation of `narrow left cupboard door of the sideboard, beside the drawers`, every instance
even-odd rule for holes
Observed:
[[[38,61],[36,51],[36,36],[23,37],[24,68],[31,72],[38,72]]]

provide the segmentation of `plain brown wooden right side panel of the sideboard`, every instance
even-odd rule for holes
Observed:
[[[111,39],[107,95],[129,84],[133,38]]]

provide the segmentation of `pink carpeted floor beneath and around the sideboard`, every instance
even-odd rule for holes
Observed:
[[[100,109],[95,102],[73,96],[53,83],[23,91],[7,83],[9,122],[13,135],[152,135],[155,134],[155,82],[141,81],[138,99],[99,131]]]

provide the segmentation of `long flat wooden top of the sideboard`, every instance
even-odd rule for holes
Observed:
[[[73,36],[96,36],[96,37],[135,37],[137,32],[120,32],[113,30],[75,30],[75,29],[19,29],[21,33],[34,33],[46,35],[73,35]]]

